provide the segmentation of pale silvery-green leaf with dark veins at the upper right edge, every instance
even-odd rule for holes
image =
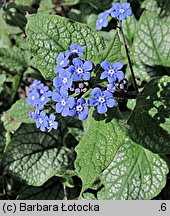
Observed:
[[[139,70],[150,76],[169,74],[170,29],[161,18],[144,12],[133,43],[134,60]]]

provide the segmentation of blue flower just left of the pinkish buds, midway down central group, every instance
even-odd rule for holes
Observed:
[[[69,73],[67,70],[62,70],[59,73],[59,77],[55,77],[53,79],[53,85],[56,87],[56,89],[59,88],[65,88],[68,89],[72,86],[73,79],[71,77],[71,73]]]

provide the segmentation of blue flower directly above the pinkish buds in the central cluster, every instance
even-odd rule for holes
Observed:
[[[90,70],[93,68],[93,64],[90,61],[83,61],[79,58],[73,59],[74,73],[73,80],[80,80],[81,78],[85,81],[89,80],[91,77]]]

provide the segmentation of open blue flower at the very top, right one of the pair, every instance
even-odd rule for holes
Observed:
[[[112,6],[112,17],[118,17],[119,20],[126,20],[127,16],[132,16],[132,11],[129,9],[130,3],[113,3]]]

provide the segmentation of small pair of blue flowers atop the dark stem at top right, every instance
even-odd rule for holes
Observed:
[[[129,9],[130,3],[113,3],[110,10],[99,14],[96,21],[96,29],[101,30],[102,27],[108,26],[108,17],[118,18],[119,20],[126,20],[127,16],[132,16],[132,11]]]

